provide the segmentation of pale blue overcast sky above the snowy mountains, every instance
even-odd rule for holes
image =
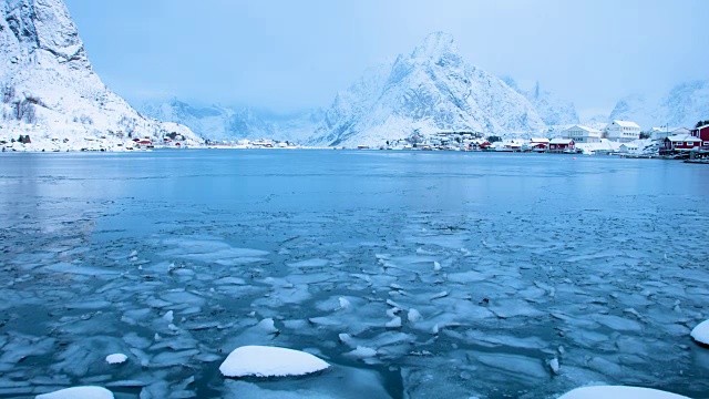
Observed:
[[[439,30],[467,63],[538,80],[583,117],[709,79],[707,0],[64,1],[95,71],[133,104],[327,108]]]

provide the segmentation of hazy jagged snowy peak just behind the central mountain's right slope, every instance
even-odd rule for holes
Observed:
[[[561,126],[579,123],[574,103],[556,96],[548,90],[543,90],[540,82],[536,82],[534,88],[524,90],[510,76],[504,76],[502,80],[517,93],[524,95],[547,125]]]

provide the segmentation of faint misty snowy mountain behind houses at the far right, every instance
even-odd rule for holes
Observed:
[[[634,121],[643,130],[666,124],[693,127],[698,121],[709,119],[709,81],[680,83],[660,99],[628,95],[618,101],[609,119]]]

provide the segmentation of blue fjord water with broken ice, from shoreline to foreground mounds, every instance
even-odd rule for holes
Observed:
[[[708,198],[653,160],[2,154],[0,398],[708,398]],[[225,379],[244,345],[332,367]]]

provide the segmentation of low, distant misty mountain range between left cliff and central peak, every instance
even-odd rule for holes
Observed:
[[[161,121],[184,124],[212,141],[273,139],[304,142],[312,136],[323,115],[320,109],[277,115],[248,108],[194,108],[178,100],[161,104],[147,103],[142,111]]]

